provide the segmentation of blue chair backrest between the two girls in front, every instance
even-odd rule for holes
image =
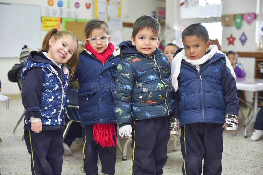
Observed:
[[[78,90],[69,89],[67,91],[69,103],[66,111],[66,115],[69,119],[74,121],[80,121],[79,103],[78,103]]]

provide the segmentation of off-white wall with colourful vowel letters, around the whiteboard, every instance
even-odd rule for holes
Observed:
[[[54,2],[53,6],[49,6],[48,2]],[[78,1],[68,1],[62,0],[63,7],[58,7],[58,0],[0,0],[0,3],[17,3],[17,4],[31,4],[31,5],[40,5],[41,6],[41,14],[42,16],[50,16],[50,17],[66,17],[66,18],[75,18],[75,19],[93,19],[94,17],[94,0],[78,0]],[[69,8],[68,8],[68,2]],[[79,2],[79,8],[75,7],[75,3]],[[121,0],[121,14],[123,22],[134,23],[134,21],[142,16],[142,15],[151,15],[151,12],[155,10],[155,7],[165,7],[166,0]],[[91,3],[91,7],[87,9],[86,3]],[[47,12],[50,12],[50,15],[47,15]],[[76,13],[75,13],[76,12]],[[71,14],[68,17],[68,13]],[[74,16],[77,14],[77,17]],[[41,20],[41,19],[39,19]],[[3,26],[1,26],[3,27]],[[33,27],[33,26],[32,26]],[[164,28],[164,26],[162,26]],[[19,28],[17,29],[19,30]],[[163,30],[164,31],[164,30]],[[162,31],[162,33],[163,33]],[[42,44],[42,40],[47,31],[41,31],[41,43],[38,46],[30,46],[28,47],[36,47],[40,48]],[[131,40],[131,27],[124,27],[121,31],[122,40]],[[163,34],[162,34],[163,36]],[[27,44],[27,43],[25,43]],[[10,46],[11,47],[11,46]],[[22,47],[22,46],[21,46]],[[16,83],[10,82],[7,78],[8,71],[12,68],[15,63],[19,63],[19,55],[17,58],[1,58],[0,56],[0,80],[2,83],[1,94],[19,94],[18,85]]]

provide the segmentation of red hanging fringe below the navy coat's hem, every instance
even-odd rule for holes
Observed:
[[[100,144],[102,148],[112,147],[117,144],[117,137],[114,123],[94,124],[93,125],[93,140]]]

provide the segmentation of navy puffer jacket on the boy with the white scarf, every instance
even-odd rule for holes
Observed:
[[[200,72],[182,60],[176,102],[181,126],[200,122],[223,124],[225,114],[238,116],[236,81],[225,59],[216,53],[200,65]]]

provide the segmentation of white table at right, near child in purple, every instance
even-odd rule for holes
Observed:
[[[247,130],[251,123],[255,121],[258,109],[258,91],[263,91],[263,79],[254,78],[236,78],[236,87],[238,90],[255,92],[254,114],[246,124],[244,137],[247,137]]]

